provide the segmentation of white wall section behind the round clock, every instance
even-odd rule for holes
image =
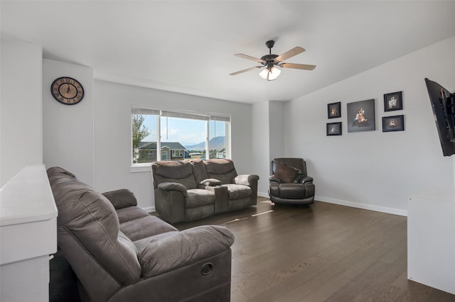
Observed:
[[[79,104],[64,105],[50,94],[58,77],[72,77],[84,87]],[[90,67],[43,60],[43,162],[63,167],[94,186],[93,71]]]

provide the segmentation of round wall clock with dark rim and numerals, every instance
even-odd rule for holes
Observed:
[[[50,93],[61,104],[75,105],[84,98],[84,87],[72,77],[59,77],[50,85]]]

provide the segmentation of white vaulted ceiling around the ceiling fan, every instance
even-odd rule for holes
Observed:
[[[255,103],[288,101],[455,35],[455,1],[3,1],[1,38],[95,79]],[[267,82],[261,57],[306,52]],[[455,53],[455,50],[454,50]]]

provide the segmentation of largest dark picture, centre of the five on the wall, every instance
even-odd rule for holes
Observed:
[[[348,103],[348,132],[376,130],[375,99]]]

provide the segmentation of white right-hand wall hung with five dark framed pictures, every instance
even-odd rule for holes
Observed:
[[[455,36],[327,86],[286,104],[286,154],[304,157],[316,200],[406,215],[407,198],[431,186],[452,186],[424,78],[455,90]],[[385,112],[383,94],[403,91],[403,110]],[[375,99],[376,130],[347,132],[346,104]],[[341,101],[341,118],[327,104]],[[405,131],[382,133],[383,116],[405,115]],[[326,123],[343,135],[326,136]]]

